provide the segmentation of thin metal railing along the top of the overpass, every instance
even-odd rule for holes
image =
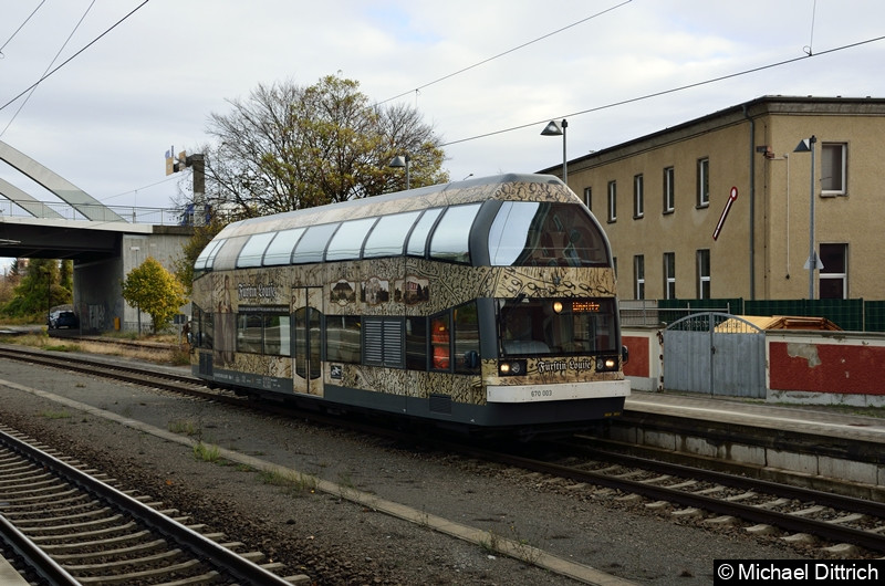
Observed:
[[[184,211],[178,208],[139,208],[85,203],[76,207],[58,201],[17,201],[0,199],[0,216],[7,218],[45,218],[52,220],[123,221],[155,226],[183,223]]]

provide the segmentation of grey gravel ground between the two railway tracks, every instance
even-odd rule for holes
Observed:
[[[186,446],[15,385],[188,432],[304,475],[279,485],[241,465],[208,463]],[[710,584],[716,558],[803,554],[774,537],[760,541],[739,529],[676,522],[642,502],[507,467],[7,360],[0,360],[0,422],[106,471],[122,488],[190,514],[208,531],[223,531],[315,584],[576,584],[491,553],[488,545],[499,537],[655,585]],[[334,492],[314,491],[312,478],[477,527],[488,532],[489,543],[462,542]]]

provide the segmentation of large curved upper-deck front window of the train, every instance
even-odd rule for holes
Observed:
[[[581,206],[508,201],[489,229],[494,266],[607,266],[602,230]]]

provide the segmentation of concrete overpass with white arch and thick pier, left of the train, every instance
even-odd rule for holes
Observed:
[[[83,328],[149,323],[123,301],[126,275],[153,257],[167,270],[192,236],[180,210],[107,207],[0,142],[0,160],[54,193],[41,201],[0,178],[0,257],[74,261],[74,310]]]

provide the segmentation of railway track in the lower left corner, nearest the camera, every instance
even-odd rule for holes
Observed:
[[[219,544],[144,499],[64,462],[0,427],[0,533],[50,584],[280,584],[260,553]],[[154,503],[156,505],[157,503]]]

